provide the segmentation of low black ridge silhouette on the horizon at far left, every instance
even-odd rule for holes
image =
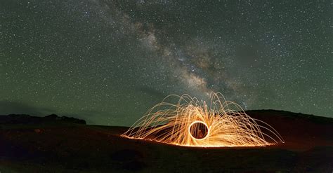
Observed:
[[[67,116],[57,116],[51,114],[45,117],[30,116],[27,114],[9,114],[8,116],[0,116],[0,124],[38,124],[38,123],[75,123],[86,124],[86,120],[72,118]]]

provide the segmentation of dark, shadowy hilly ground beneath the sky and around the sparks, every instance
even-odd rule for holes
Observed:
[[[0,172],[333,172],[333,118],[247,111],[285,144],[191,148],[119,137],[127,127],[84,120],[0,116]]]

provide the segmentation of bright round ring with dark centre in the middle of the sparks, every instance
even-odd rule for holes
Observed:
[[[197,140],[205,139],[208,136],[209,129],[206,123],[197,120],[190,124],[188,131],[192,138]]]

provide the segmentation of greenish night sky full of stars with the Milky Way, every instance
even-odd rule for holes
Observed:
[[[0,114],[131,125],[166,95],[333,117],[333,1],[0,0]]]

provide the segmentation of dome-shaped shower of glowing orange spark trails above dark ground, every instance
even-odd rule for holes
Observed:
[[[179,99],[177,104],[165,102],[174,97]],[[210,97],[207,105],[190,95],[169,95],[122,137],[204,147],[267,146],[284,142],[273,127],[251,118],[238,104],[226,101],[220,92],[211,92]]]

